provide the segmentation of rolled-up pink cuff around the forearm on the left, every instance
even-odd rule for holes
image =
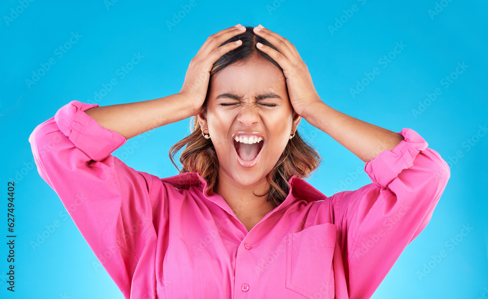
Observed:
[[[98,104],[72,100],[54,115],[60,131],[90,159],[101,161],[127,140],[121,134],[102,127],[85,110],[99,107]]]

